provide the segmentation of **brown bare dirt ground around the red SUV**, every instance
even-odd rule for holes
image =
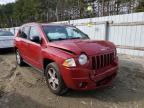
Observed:
[[[144,58],[120,55],[119,74],[105,89],[52,94],[44,77],[16,66],[11,52],[0,54],[0,108],[144,108]]]

